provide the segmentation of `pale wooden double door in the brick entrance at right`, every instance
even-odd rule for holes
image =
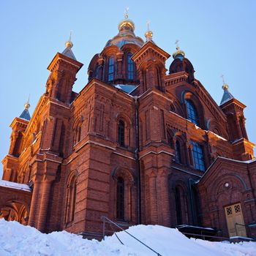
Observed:
[[[241,210],[241,204],[236,203],[232,206],[225,207],[225,214],[229,235],[246,237],[246,229],[244,226],[244,217]]]

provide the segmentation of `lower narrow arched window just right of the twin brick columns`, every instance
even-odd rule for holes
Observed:
[[[66,224],[74,220],[77,178],[72,176],[67,184]]]

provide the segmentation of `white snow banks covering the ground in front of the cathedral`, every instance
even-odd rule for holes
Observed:
[[[252,256],[256,255],[256,242],[239,244],[208,242],[189,239],[176,229],[158,225],[129,227],[129,233],[140,238],[162,256]],[[74,234],[53,232],[40,233],[33,227],[0,219],[0,255],[86,255],[86,256],[150,256],[156,255],[139,244],[127,233],[109,236],[105,241],[86,240]]]

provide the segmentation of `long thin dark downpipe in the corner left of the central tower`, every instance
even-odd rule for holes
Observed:
[[[138,178],[137,178],[137,186],[138,186],[138,224],[141,224],[141,186],[140,186],[140,127],[139,127],[139,109],[138,109],[138,96],[134,97],[135,99],[135,123],[136,123],[136,150],[135,150],[135,159],[138,168]]]

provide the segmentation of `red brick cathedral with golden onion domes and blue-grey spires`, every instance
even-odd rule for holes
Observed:
[[[56,53],[33,115],[27,102],[10,124],[0,218],[86,237],[102,234],[102,216],[122,227],[256,237],[246,106],[226,83],[218,105],[178,45],[166,67],[170,54],[149,29],[145,37],[126,14],[80,92],[72,90],[83,64],[71,38]]]

